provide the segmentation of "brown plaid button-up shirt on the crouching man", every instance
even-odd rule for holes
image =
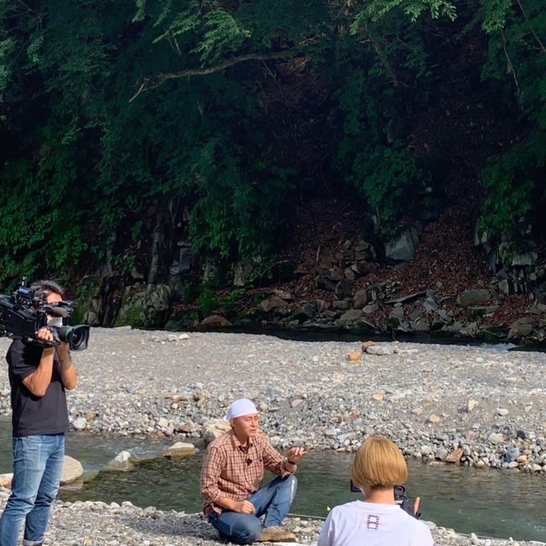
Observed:
[[[233,430],[207,447],[200,476],[205,518],[213,511],[222,512],[222,507],[215,504],[221,498],[242,501],[250,497],[262,485],[264,468],[281,478],[292,473],[286,468],[286,457],[271,446],[264,434],[248,438],[247,447],[241,446]]]

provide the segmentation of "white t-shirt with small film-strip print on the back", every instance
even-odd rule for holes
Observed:
[[[317,546],[433,546],[430,529],[398,505],[353,501],[336,506]]]

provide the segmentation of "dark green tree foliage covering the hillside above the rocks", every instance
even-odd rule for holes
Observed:
[[[457,4],[467,32],[487,37],[484,85],[527,127],[483,176],[483,222],[497,232],[544,197],[540,4]],[[445,0],[0,1],[0,282],[127,257],[165,222],[225,259],[269,252],[324,157],[343,191],[396,221],[428,177],[399,120],[433,88],[437,40],[456,38],[458,11]],[[304,81],[324,135],[305,161]]]

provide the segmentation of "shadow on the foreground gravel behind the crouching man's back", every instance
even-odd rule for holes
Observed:
[[[123,524],[140,533],[160,536],[195,537],[214,543],[223,543],[218,531],[200,515],[155,514],[123,518]]]

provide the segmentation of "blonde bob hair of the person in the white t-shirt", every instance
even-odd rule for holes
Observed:
[[[383,436],[371,436],[353,460],[353,483],[359,488],[390,489],[403,484],[408,468],[402,452]]]

